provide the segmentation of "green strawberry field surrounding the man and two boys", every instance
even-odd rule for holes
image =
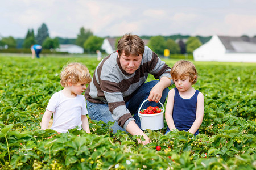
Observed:
[[[255,63],[193,62],[194,87],[205,98],[199,135],[164,135],[164,122],[164,129],[146,131],[152,142],[143,146],[139,137],[113,134],[112,122],[90,120],[92,134],[40,130],[69,62],[84,63],[92,75],[98,64],[96,57],[0,57],[0,169],[255,169]]]

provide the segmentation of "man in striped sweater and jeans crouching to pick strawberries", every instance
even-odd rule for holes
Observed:
[[[115,121],[112,129],[150,138],[141,130],[138,108],[164,103],[171,85],[170,67],[144,45],[137,35],[125,34],[117,44],[117,52],[102,59],[94,71],[93,80],[85,91],[89,117],[92,120]],[[146,82],[148,74],[156,79]],[[173,84],[173,82],[172,82]],[[134,116],[132,116],[132,114]],[[138,140],[139,143],[141,141]]]

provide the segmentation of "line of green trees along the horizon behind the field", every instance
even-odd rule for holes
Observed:
[[[243,35],[244,37],[248,37]],[[189,35],[171,35],[171,36],[140,36],[147,39],[149,46],[154,52],[163,55],[164,49],[170,50],[170,54],[192,54],[193,50],[209,41],[211,36],[189,36]],[[116,43],[121,37],[116,37]],[[31,45],[42,45],[43,49],[56,49],[60,44],[76,44],[84,48],[85,53],[95,53],[101,49],[104,37],[93,35],[90,29],[80,28],[76,39],[63,39],[61,37],[51,38],[47,25],[43,23],[35,34],[34,29],[28,29],[24,39],[14,39],[14,37],[3,37],[0,39],[0,48],[24,48],[29,49]]]

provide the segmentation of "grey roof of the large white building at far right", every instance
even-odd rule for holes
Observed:
[[[256,53],[256,37],[218,36],[227,52]]]

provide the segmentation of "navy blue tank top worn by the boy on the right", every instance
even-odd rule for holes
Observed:
[[[174,90],[174,110],[172,112],[174,125],[179,130],[188,131],[196,120],[196,104],[199,91],[196,90],[195,94],[190,99],[183,99],[180,97],[176,87]],[[197,134],[198,129],[195,135]]]

